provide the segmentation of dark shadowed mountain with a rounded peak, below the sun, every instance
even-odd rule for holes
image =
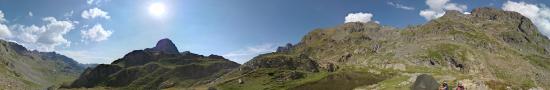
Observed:
[[[206,88],[202,86],[239,66],[218,55],[178,52],[171,40],[162,39],[153,48],[134,50],[111,64],[88,68],[78,79],[62,88]]]

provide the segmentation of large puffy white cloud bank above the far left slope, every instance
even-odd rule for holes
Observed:
[[[54,17],[46,17],[42,20],[46,22],[43,26],[13,25],[11,29],[14,36],[11,39],[38,51],[54,51],[57,46],[70,45],[63,36],[74,29],[72,21],[58,21]]]

